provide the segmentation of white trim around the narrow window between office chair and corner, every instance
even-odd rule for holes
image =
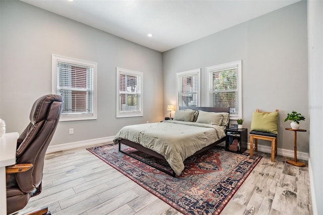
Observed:
[[[120,113],[119,112],[119,76],[120,72],[126,72],[128,74],[133,74],[135,76],[141,76],[141,83],[140,83],[140,113]],[[124,118],[124,117],[142,117],[143,116],[143,73],[134,71],[134,70],[129,70],[129,69],[123,69],[117,67],[117,102],[116,102],[116,117],[117,118]]]

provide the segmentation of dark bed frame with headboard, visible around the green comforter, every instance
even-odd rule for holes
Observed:
[[[186,107],[186,106],[184,107],[183,106],[183,107],[180,107],[179,110],[185,110],[185,109],[192,109],[192,110],[195,110],[195,111],[201,110],[201,111],[205,111],[205,112],[216,112],[216,113],[219,113],[219,112],[230,113],[230,108],[215,108],[215,107]],[[223,137],[223,138],[219,139],[218,141],[216,141],[216,142],[214,142],[214,143],[212,143],[212,144],[210,144],[208,146],[205,146],[204,148],[202,148],[199,151],[195,152],[192,156],[194,156],[196,154],[199,154],[199,153],[202,153],[203,151],[206,151],[206,150],[218,145],[219,143],[222,143],[225,140],[226,140],[226,137]],[[151,164],[149,162],[146,162],[146,160],[143,160],[143,159],[141,159],[139,157],[133,156],[132,154],[127,153],[125,151],[122,151],[121,150],[121,144],[130,146],[130,147],[135,148],[135,149],[137,149],[139,151],[142,151],[142,152],[144,152],[144,153],[146,153],[148,155],[151,155],[151,156],[154,156],[156,158],[165,160],[167,162],[167,160],[165,159],[165,157],[163,155],[161,155],[161,154],[159,154],[159,153],[157,153],[157,152],[155,152],[155,151],[153,151],[153,150],[151,150],[149,148],[145,148],[144,146],[142,146],[142,145],[140,145],[138,143],[132,142],[130,140],[127,140],[127,139],[119,140],[119,151],[120,152],[122,152],[124,154],[127,154],[128,156],[131,156],[131,157],[139,160],[140,162],[143,162],[143,163],[145,163],[145,164],[147,164],[147,165],[149,165],[149,166],[151,166],[151,167],[153,167],[153,168],[155,168],[155,169],[157,169],[157,170],[159,170],[161,172],[164,172],[164,173],[166,173],[166,174],[168,174],[170,176],[176,177],[176,174],[175,174],[174,170],[173,170],[173,172],[169,172],[169,171],[164,170],[164,169],[162,169],[160,167],[157,167],[157,166],[155,166],[155,165],[153,165],[153,164]]]

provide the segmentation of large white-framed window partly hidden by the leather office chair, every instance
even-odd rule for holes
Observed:
[[[52,93],[63,95],[60,121],[96,119],[97,64],[52,55]]]

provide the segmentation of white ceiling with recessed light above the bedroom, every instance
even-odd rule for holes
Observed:
[[[164,52],[300,0],[21,1]]]

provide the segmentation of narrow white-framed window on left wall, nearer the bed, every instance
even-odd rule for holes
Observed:
[[[117,118],[143,116],[143,73],[117,68]]]

